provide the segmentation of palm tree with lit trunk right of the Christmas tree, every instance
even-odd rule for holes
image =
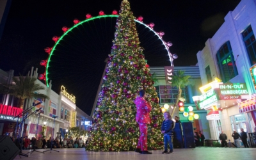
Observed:
[[[191,77],[191,76],[185,76],[184,71],[177,70],[177,72],[174,72],[171,77],[172,77],[172,79],[170,80],[170,83],[172,83],[173,87],[177,87],[179,89],[177,99],[176,99],[176,102],[174,104],[174,108],[173,108],[172,114],[171,114],[173,116],[174,111],[177,108],[177,105],[179,103],[179,100],[183,101],[183,99],[181,97],[181,93],[182,93],[181,88],[184,88],[189,83],[189,77]]]

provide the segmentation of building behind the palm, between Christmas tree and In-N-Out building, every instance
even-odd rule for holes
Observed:
[[[153,75],[155,80],[154,86],[159,97],[159,105],[164,109],[164,106],[168,104],[166,111],[172,111],[173,105],[177,97],[178,90],[172,87],[168,81],[173,72],[178,70],[184,71],[185,76],[191,76],[189,78],[189,84],[182,88],[182,97],[184,97],[184,108],[193,108],[193,113],[199,115],[196,120],[189,120],[189,115],[184,114],[184,111],[179,111],[179,108],[175,109],[173,116],[179,116],[181,122],[193,122],[194,131],[202,131],[206,139],[211,138],[208,121],[206,120],[207,111],[196,108],[193,102],[193,96],[200,93],[199,86],[202,86],[200,79],[200,72],[198,66],[186,66],[186,67],[150,67],[150,73]],[[162,110],[163,110],[162,109]]]

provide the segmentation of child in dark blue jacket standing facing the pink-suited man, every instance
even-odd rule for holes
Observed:
[[[172,135],[173,128],[175,127],[174,122],[172,121],[172,116],[169,112],[164,113],[164,121],[162,123],[161,131],[164,134],[164,152],[162,154],[172,154],[173,145],[172,145]],[[168,144],[170,145],[170,152],[168,152]]]

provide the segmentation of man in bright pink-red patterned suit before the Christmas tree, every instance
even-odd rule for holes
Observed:
[[[140,125],[140,139],[135,152],[141,154],[152,154],[147,150],[148,126],[150,124],[151,104],[145,100],[145,91],[140,90],[140,97],[134,100],[137,108],[136,122]]]

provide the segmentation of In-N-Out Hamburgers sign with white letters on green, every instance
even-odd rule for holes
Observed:
[[[221,95],[248,95],[245,83],[220,84]]]

